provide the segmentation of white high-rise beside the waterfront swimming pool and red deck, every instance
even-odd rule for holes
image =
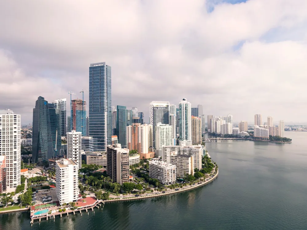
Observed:
[[[78,164],[72,159],[56,161],[56,196],[60,205],[79,199]]]

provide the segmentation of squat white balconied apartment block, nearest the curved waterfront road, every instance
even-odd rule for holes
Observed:
[[[163,161],[151,160],[149,162],[149,176],[158,179],[162,184],[168,185],[176,182],[176,165]]]

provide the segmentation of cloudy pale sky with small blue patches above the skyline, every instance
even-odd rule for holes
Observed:
[[[234,121],[307,121],[306,0],[0,2],[0,109],[82,98],[90,63],[112,67],[112,105],[187,98]],[[84,93],[88,102],[88,91]]]

